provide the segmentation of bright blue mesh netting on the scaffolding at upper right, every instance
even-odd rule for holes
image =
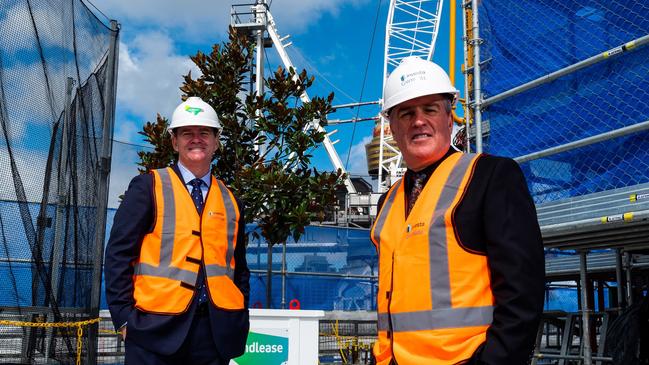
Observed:
[[[484,150],[508,157],[603,137],[521,163],[535,202],[649,181],[649,3],[486,0],[478,7]],[[644,40],[643,40],[643,37]],[[578,70],[567,69],[599,56]],[[567,70],[566,70],[567,69]],[[550,82],[489,102],[546,75]]]

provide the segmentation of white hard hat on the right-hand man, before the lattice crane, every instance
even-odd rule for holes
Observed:
[[[404,101],[432,94],[451,94],[455,103],[459,93],[444,69],[431,61],[410,56],[401,60],[388,76],[383,89],[381,112],[387,113]]]

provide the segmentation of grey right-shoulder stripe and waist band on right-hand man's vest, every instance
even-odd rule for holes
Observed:
[[[475,155],[462,154],[453,167],[433,212],[428,232],[430,293],[432,310],[392,313],[392,330],[421,331],[440,328],[460,328],[489,325],[493,319],[493,307],[451,307],[451,281],[448,263],[448,242],[444,215],[458,193],[462,178]],[[381,317],[384,317],[381,319]],[[379,329],[388,328],[387,313],[379,313]]]

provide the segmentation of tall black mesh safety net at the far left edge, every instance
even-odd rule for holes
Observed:
[[[115,38],[80,0],[0,2],[0,362],[87,350]]]

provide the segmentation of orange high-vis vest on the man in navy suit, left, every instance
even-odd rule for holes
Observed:
[[[135,263],[135,307],[158,314],[186,311],[204,264],[212,303],[243,309],[243,294],[232,280],[239,207],[230,190],[212,177],[199,216],[185,183],[171,168],[154,170],[153,181],[156,221]]]

